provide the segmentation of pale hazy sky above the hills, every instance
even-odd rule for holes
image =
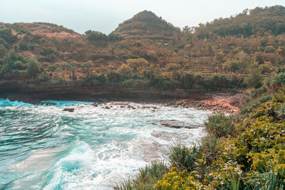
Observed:
[[[175,26],[198,26],[244,9],[282,5],[284,0],[0,0],[0,22],[48,22],[110,33],[140,11],[152,11]]]

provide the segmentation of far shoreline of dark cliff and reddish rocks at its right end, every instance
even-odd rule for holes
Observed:
[[[54,86],[23,81],[0,80],[0,98],[40,104],[43,100],[77,100],[86,102],[152,102],[172,107],[234,114],[239,111],[242,90],[165,90],[161,88],[127,88],[115,86]]]

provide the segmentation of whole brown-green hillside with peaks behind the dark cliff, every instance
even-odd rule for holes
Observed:
[[[109,35],[81,35],[51,23],[0,23],[0,78],[57,85],[243,86],[252,73],[270,75],[283,67],[284,9],[245,10],[182,31],[142,11]]]

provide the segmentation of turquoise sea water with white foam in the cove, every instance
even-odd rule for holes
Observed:
[[[47,101],[46,101],[47,102]],[[112,189],[123,177],[191,143],[202,127],[174,129],[160,120],[203,124],[210,112],[155,106],[110,109],[93,102],[30,105],[0,99],[0,189]],[[74,112],[63,112],[74,107]]]

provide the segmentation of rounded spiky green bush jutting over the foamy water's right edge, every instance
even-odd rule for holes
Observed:
[[[209,115],[207,121],[204,122],[207,131],[214,134],[215,137],[227,137],[234,132],[233,117],[223,113]]]

